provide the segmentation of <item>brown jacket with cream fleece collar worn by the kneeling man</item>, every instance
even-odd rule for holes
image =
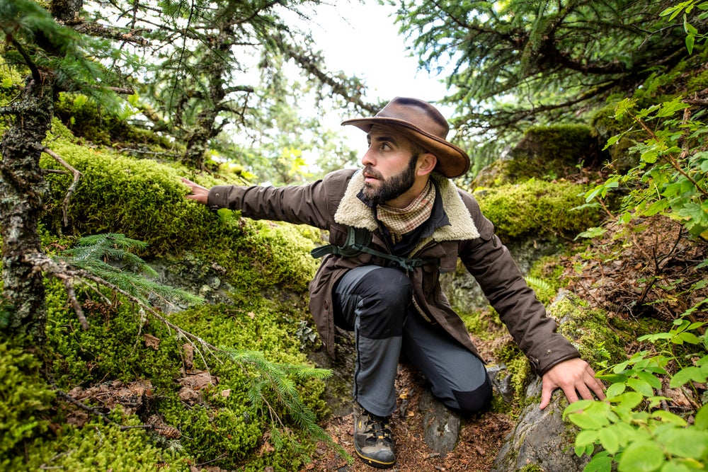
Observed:
[[[556,333],[556,323],[546,316],[543,304],[526,284],[474,197],[457,189],[452,180],[435,173],[433,178],[450,225],[435,229],[410,255],[440,260],[440,267],[424,265],[409,273],[414,287],[413,303],[418,311],[479,355],[462,319],[440,289],[440,273],[454,271],[460,258],[537,373],[542,375],[561,361],[579,357],[576,348]],[[240,209],[244,217],[252,219],[290,221],[326,229],[330,243],[337,246],[345,243],[348,226],[366,228],[373,234],[370,247],[387,252],[372,210],[357,197],[362,186],[362,173],[354,170],[335,171],[309,185],[279,188],[218,185],[210,190],[208,205]],[[332,289],[350,268],[370,264],[389,265],[389,261],[368,253],[355,258],[326,255],[310,282],[310,311],[330,355],[334,354]]]

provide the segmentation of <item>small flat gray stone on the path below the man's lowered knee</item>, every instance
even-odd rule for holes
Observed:
[[[423,433],[428,447],[442,456],[455,449],[461,420],[459,413],[436,400],[429,388],[421,393],[418,408],[423,413]]]

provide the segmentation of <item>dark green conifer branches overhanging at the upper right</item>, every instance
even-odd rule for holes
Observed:
[[[578,120],[688,55],[683,17],[660,16],[673,0],[394,3],[421,67],[447,77],[442,101],[467,137]]]

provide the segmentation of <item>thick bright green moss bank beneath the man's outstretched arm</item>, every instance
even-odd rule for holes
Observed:
[[[56,127],[55,132],[62,132]],[[53,199],[43,223],[66,235],[119,233],[148,243],[147,255],[180,258],[189,250],[224,268],[238,289],[304,289],[317,261],[309,255],[312,232],[289,224],[241,219],[223,210],[219,216],[185,199],[188,189],[179,166],[132,159],[56,139],[52,149],[83,174],[63,226],[62,202],[69,175],[50,176]],[[42,164],[58,168],[49,156]],[[224,183],[204,179],[205,186]]]

